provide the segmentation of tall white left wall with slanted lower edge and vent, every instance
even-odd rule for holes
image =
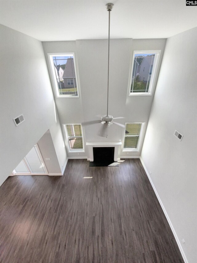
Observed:
[[[58,114],[57,124],[55,121],[54,97],[42,43],[2,25],[0,30],[1,185],[46,130],[52,128],[51,136],[56,141],[56,134],[61,133],[61,128]],[[16,127],[13,118],[21,113],[25,121]],[[58,161],[64,164],[66,151],[63,142],[60,140],[59,148],[56,144]]]

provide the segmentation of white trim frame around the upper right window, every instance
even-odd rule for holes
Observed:
[[[134,66],[134,58],[135,58],[135,54],[152,54],[155,53],[155,61],[154,61],[154,66],[152,68],[152,76],[151,77],[151,81],[149,84],[149,90],[148,92],[131,92],[131,82],[132,82],[132,72],[133,72],[133,66]],[[128,83],[128,93],[129,96],[151,96],[152,92],[153,92],[153,86],[155,83],[155,77],[156,77],[156,73],[157,73],[157,68],[158,68],[158,64],[159,64],[159,58],[160,58],[160,54],[161,54],[161,50],[134,50],[133,51],[133,60],[132,60],[132,64],[131,64],[131,72],[130,72],[130,78],[129,78],[129,83]]]

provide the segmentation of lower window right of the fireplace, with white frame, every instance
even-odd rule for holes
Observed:
[[[126,123],[126,131],[124,134],[123,151],[136,150],[139,151],[144,123]]]

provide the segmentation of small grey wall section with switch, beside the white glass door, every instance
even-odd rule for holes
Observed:
[[[49,174],[61,174],[58,158],[55,152],[54,144],[48,130],[37,142],[40,152],[42,154],[43,161],[46,165],[46,169]],[[50,158],[50,160],[46,160]]]

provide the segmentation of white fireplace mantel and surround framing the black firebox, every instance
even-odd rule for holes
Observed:
[[[93,147],[115,147],[114,150],[114,161],[117,162],[120,159],[120,147],[122,142],[86,142],[88,148],[88,160],[94,161]]]

